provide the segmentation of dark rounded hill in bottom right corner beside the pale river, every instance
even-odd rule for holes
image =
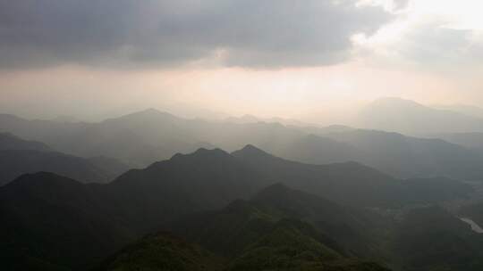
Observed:
[[[444,209],[412,210],[394,237],[393,261],[404,270],[483,270],[483,236]]]

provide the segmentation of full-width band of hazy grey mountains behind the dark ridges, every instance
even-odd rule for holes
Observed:
[[[420,106],[411,103],[411,107]],[[199,147],[232,152],[255,144],[289,160],[312,164],[353,160],[394,177],[483,179],[483,152],[479,150],[442,140],[351,127],[209,122],[153,109],[99,123],[56,123],[0,115],[0,127],[45,142],[60,152],[113,157],[134,168],[169,159],[177,152],[194,152]]]

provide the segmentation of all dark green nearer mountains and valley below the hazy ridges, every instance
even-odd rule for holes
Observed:
[[[450,179],[402,181],[357,163],[200,149],[107,185],[17,178],[0,188],[0,250],[7,270],[86,270],[105,260],[114,270],[476,271],[483,242],[468,225],[439,209],[387,209],[465,192]],[[134,242],[159,230],[186,241]]]

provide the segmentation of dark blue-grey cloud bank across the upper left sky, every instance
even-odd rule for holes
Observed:
[[[0,0],[0,66],[171,66],[215,52],[226,65],[326,65],[390,20],[355,2]]]

